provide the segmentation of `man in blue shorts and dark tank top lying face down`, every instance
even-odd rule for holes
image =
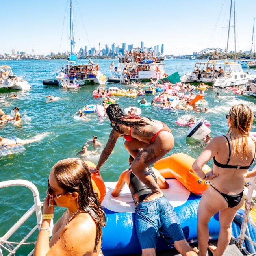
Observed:
[[[130,165],[133,160],[134,158],[130,156]],[[155,168],[148,167],[147,171],[153,176],[161,189],[169,187],[165,178]],[[166,243],[169,245],[174,244],[180,254],[187,256],[197,255],[187,243],[180,220],[167,198],[163,196],[156,200],[145,202],[144,199],[152,191],[131,172],[130,168],[120,175],[112,192],[113,197],[120,195],[125,183],[127,183],[136,204],[135,226],[142,255],[155,255],[159,234],[163,236]]]

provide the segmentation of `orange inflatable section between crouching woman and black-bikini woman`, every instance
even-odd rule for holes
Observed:
[[[164,178],[175,178],[183,186],[194,194],[203,194],[209,186],[204,180],[201,180],[192,170],[195,158],[183,153],[174,154],[158,160],[154,164]],[[211,168],[204,165],[203,171],[207,173]]]

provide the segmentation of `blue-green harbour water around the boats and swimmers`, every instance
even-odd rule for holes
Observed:
[[[100,70],[106,76],[109,76],[109,65],[112,60],[98,60]],[[115,59],[115,64],[117,60]],[[72,115],[82,109],[87,104],[100,104],[102,98],[93,98],[93,90],[98,89],[100,85],[88,84],[77,90],[62,89],[58,86],[43,86],[43,79],[54,79],[55,70],[66,63],[66,60],[32,60],[32,61],[1,61],[1,65],[10,65],[13,72],[19,76],[25,76],[32,89],[30,91],[15,91],[17,99],[6,99],[7,104],[0,102],[0,108],[6,113],[17,106],[20,113],[26,110],[27,115],[32,121],[22,124],[21,127],[6,124],[0,126],[0,135],[2,137],[16,136],[20,139],[29,139],[34,136],[41,137],[41,141],[25,145],[26,151],[21,154],[13,154],[0,158],[0,181],[11,179],[25,179],[33,182],[39,189],[41,200],[45,197],[47,189],[47,179],[51,167],[57,161],[63,158],[76,156],[76,153],[82,150],[82,145],[93,135],[98,136],[98,141],[103,145],[108,140],[111,130],[107,117],[99,118],[98,115],[89,114],[90,119],[86,122],[76,121]],[[80,60],[78,63],[88,63],[88,60]],[[168,74],[176,71],[182,76],[193,69],[195,61],[191,60],[166,60],[165,69]],[[253,70],[246,70],[253,73]],[[123,84],[107,84],[110,86],[126,88]],[[129,88],[129,87],[127,87]],[[127,89],[126,88],[126,89]],[[221,97],[217,98],[217,92]],[[201,144],[189,144],[186,142],[187,127],[177,126],[175,121],[178,117],[195,120],[206,118],[210,121],[211,135],[223,135],[227,131],[226,117],[230,107],[234,104],[246,104],[253,111],[256,111],[256,99],[247,95],[236,95],[233,91],[207,89],[205,99],[209,102],[211,113],[199,113],[196,111],[170,111],[158,107],[142,108],[142,115],[152,119],[158,119],[167,124],[173,131],[175,145],[169,154],[184,152],[197,158],[202,152],[204,146]],[[9,91],[2,90],[0,95],[6,96]],[[61,99],[54,102],[48,102],[46,95],[58,96]],[[146,95],[145,98],[151,102],[153,95]],[[119,97],[117,101],[121,108],[128,106],[137,106],[136,98]],[[254,130],[254,128],[253,128]],[[91,148],[88,148],[91,150]],[[168,155],[169,155],[168,154]],[[99,153],[89,156],[87,160],[97,163]],[[102,166],[101,174],[104,181],[116,181],[119,174],[128,167],[128,153],[126,152],[123,139],[119,138],[109,156],[108,161]],[[212,163],[209,162],[209,165]],[[11,187],[0,189],[0,216],[1,231],[0,237],[15,223],[33,204],[32,193],[24,187]],[[55,217],[58,217],[63,209],[56,208]],[[4,223],[4,224],[3,224]],[[10,241],[18,241],[35,226],[35,216],[27,221]],[[30,241],[35,241],[33,236]],[[17,255],[26,255],[32,248],[32,245],[22,247]]]

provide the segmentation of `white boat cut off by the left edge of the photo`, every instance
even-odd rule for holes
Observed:
[[[0,78],[0,88],[8,88],[15,90],[30,90],[30,84],[24,80],[24,76],[16,76],[13,74],[10,66],[0,66],[2,78]]]

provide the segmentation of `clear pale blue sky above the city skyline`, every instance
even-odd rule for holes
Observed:
[[[32,48],[35,54],[69,49],[66,6],[69,0],[1,1],[0,54],[13,48],[28,54]],[[73,6],[76,50],[98,48],[99,42],[102,47],[123,42],[139,46],[141,41],[147,47],[164,43],[165,54],[226,48],[228,29],[223,27],[228,26],[230,0],[73,0]],[[250,50],[255,10],[256,0],[236,0],[237,50]],[[234,28],[229,50],[234,50]]]

